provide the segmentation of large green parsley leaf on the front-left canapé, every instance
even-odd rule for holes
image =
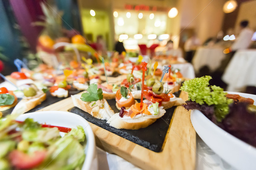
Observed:
[[[103,99],[102,89],[98,89],[96,84],[89,85],[87,93],[81,95],[81,100],[84,102],[93,102],[101,99]]]

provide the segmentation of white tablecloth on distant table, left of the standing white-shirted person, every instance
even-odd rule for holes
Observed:
[[[221,65],[221,61],[226,57],[223,50],[220,47],[197,48],[195,56],[192,59],[195,72],[198,73],[199,69],[204,65],[208,66],[210,71],[215,71]]]

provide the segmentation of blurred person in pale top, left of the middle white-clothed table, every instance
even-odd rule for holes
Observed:
[[[192,37],[190,37],[188,40],[186,40],[186,42],[184,44],[184,50],[186,52],[185,59],[188,62],[192,61],[192,58],[195,54],[195,50],[200,45],[201,45],[201,41],[199,40],[199,38],[197,37],[197,35],[195,33],[192,35]]]

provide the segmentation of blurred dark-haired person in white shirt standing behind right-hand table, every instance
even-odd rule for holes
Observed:
[[[248,27],[249,22],[243,20],[240,23],[241,32],[236,38],[233,45],[230,47],[231,51],[237,51],[240,49],[246,49],[250,46],[253,37],[253,31]]]

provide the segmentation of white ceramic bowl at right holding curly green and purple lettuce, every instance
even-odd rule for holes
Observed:
[[[256,101],[256,95],[236,92],[240,96],[251,98]],[[255,104],[255,102],[254,102]],[[193,110],[190,115],[195,131],[201,139],[222,159],[238,170],[256,169],[256,148],[247,144],[235,136],[222,130],[215,125],[203,113]]]

